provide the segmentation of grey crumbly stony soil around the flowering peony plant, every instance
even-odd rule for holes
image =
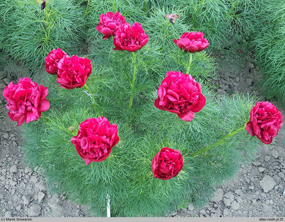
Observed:
[[[220,62],[219,58],[217,58],[217,62]],[[0,90],[3,90],[9,81],[15,82],[17,75],[11,68],[2,72]],[[258,79],[254,62],[244,61],[240,67],[223,66],[222,70],[218,71],[218,78],[212,80],[212,85],[219,94],[231,94],[235,91],[253,92]],[[256,91],[254,94],[260,96]],[[0,112],[5,113],[3,97],[0,99],[0,106]],[[6,115],[1,116],[1,122],[0,176],[2,179],[4,176],[5,179],[0,181],[2,187],[0,189],[2,215],[0,216],[11,213],[15,217],[32,215],[39,217],[87,217],[89,215],[87,207],[71,203],[65,194],[59,196],[49,194],[45,186],[44,175],[37,174],[24,163],[25,154],[20,150],[22,144],[20,129],[15,127],[15,123]],[[284,128],[280,129],[276,141],[273,147],[260,146],[256,161],[249,166],[242,165],[241,171],[236,174],[234,179],[217,187],[215,198],[205,208],[194,210],[192,205],[188,204],[187,209],[176,210],[168,216],[284,217],[285,195],[282,195],[285,179]],[[11,170],[14,166],[16,170]],[[260,181],[266,175],[272,177],[276,185],[264,193]],[[266,179],[268,178],[266,177]],[[28,200],[30,201],[27,202]],[[36,205],[39,205],[40,208]],[[29,213],[34,214],[29,215]]]

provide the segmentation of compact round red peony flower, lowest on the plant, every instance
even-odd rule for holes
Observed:
[[[179,150],[163,147],[152,159],[152,173],[161,180],[176,177],[182,170],[184,161]]]

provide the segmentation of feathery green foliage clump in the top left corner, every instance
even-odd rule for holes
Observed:
[[[84,8],[76,1],[1,1],[0,48],[25,66],[37,68],[53,48],[78,52],[83,45]]]

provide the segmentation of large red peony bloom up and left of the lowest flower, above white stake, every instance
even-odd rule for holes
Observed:
[[[77,153],[86,165],[105,160],[119,142],[117,124],[111,125],[105,117],[88,118],[79,126],[77,136],[71,139]]]

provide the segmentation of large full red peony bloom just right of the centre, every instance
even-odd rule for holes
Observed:
[[[200,111],[206,98],[201,93],[201,85],[188,74],[169,71],[157,90],[156,108],[176,113],[184,121],[191,121]]]

